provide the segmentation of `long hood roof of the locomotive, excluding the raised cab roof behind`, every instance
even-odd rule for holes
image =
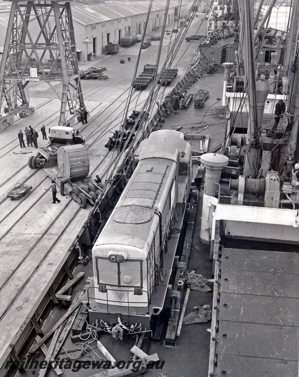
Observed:
[[[172,183],[169,175],[173,165],[162,159],[152,159],[150,164],[141,161],[137,165],[96,245],[118,243],[140,249],[147,246],[154,213],[165,187]]]

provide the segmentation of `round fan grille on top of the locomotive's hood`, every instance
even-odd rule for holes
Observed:
[[[113,219],[124,224],[142,224],[151,219],[151,213],[148,208],[139,205],[121,207],[113,215]]]

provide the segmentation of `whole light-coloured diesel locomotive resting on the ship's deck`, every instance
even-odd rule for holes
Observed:
[[[139,316],[149,324],[163,307],[178,236],[168,239],[171,226],[182,224],[191,147],[180,132],[156,131],[141,143],[136,159],[139,163],[92,249],[91,322],[121,315],[128,323]]]

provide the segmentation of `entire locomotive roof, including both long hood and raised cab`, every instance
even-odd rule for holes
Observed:
[[[96,245],[147,247],[149,238],[153,237],[152,223],[158,221],[155,213],[163,209],[177,169],[176,163],[178,160],[189,161],[191,147],[181,132],[163,130],[151,133],[140,144],[138,154],[140,162]]]

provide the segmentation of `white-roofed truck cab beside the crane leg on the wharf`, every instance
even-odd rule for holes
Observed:
[[[54,126],[49,128],[49,140],[51,144],[84,144],[80,130],[73,127]]]

